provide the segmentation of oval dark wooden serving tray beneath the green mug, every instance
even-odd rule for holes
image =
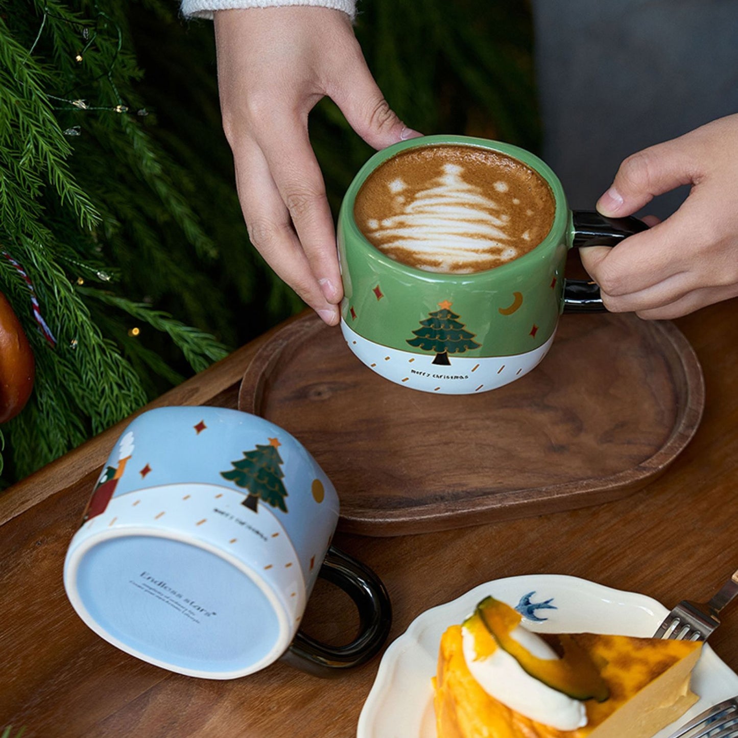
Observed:
[[[481,395],[382,379],[306,314],[255,354],[238,407],[298,438],[333,480],[343,531],[393,536],[632,494],[697,430],[705,390],[672,323],[566,315],[534,371]]]

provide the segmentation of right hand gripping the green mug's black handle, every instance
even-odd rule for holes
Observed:
[[[649,230],[612,249],[582,249],[608,310],[669,319],[738,295],[738,114],[629,156],[597,210],[632,215],[680,184],[689,197],[663,222],[649,216]]]

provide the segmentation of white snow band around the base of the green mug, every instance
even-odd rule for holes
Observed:
[[[525,376],[539,365],[554,342],[554,334],[539,348],[513,356],[446,357],[438,364],[435,354],[415,354],[375,343],[359,336],[341,319],[348,348],[371,370],[421,392],[439,395],[473,395],[489,392]]]

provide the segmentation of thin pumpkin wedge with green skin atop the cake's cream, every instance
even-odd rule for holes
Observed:
[[[599,669],[570,635],[562,633],[558,636],[564,651],[563,658],[538,658],[510,635],[522,618],[508,604],[494,597],[486,597],[477,604],[475,615],[479,616],[497,645],[508,652],[534,679],[575,700],[595,699],[604,702],[610,697],[610,690]]]

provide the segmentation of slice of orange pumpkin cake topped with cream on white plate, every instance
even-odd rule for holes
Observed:
[[[627,635],[540,636],[488,597],[441,638],[438,738],[652,738],[698,699],[702,644]]]

